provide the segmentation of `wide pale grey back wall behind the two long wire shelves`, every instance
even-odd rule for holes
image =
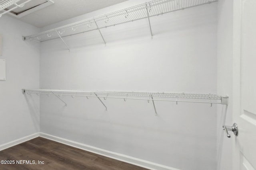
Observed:
[[[144,3],[116,6],[43,28]],[[41,43],[40,88],[216,93],[217,4]],[[36,87],[35,87],[36,88]],[[182,170],[216,170],[216,106],[40,97],[44,133]]]

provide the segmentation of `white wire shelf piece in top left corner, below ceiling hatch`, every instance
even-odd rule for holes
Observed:
[[[31,0],[27,0],[21,4],[17,4],[20,0],[0,0],[0,17],[16,8],[22,8],[26,3]]]

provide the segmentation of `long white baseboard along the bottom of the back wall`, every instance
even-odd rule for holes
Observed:
[[[120,160],[122,162],[127,162],[129,164],[134,164],[136,166],[141,166],[150,170],[178,170],[176,168],[172,168],[169,166],[164,166],[161,164],[156,164],[154,162],[149,162],[146,160],[142,160],[142,159],[138,159],[138,158],[134,158],[132,156],[127,156],[124,154],[120,154],[120,153],[116,153],[116,152],[111,152],[109,150],[104,150],[104,149],[100,149],[100,148],[96,148],[96,147],[92,147],[90,145],[85,145],[83,143],[78,143],[75,141],[70,141],[68,139],[64,139],[64,138],[60,138],[60,137],[56,137],[53,135],[49,135],[46,133],[40,133],[39,134],[40,137],[52,140],[52,141],[56,141],[58,143],[63,143],[65,145],[69,145],[71,147],[75,147],[78,149],[82,149],[82,150],[86,150],[95,154],[99,154],[102,156],[106,156],[108,158],[113,158],[116,160]]]

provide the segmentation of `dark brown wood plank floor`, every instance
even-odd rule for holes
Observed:
[[[146,170],[41,137],[0,151],[0,160],[15,161],[0,164],[0,170]],[[16,160],[30,160],[31,164],[17,164]],[[38,160],[44,164],[38,164]]]

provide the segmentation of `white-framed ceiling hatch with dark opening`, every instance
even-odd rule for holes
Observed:
[[[49,5],[54,4],[52,0],[19,0],[17,4],[26,3],[22,8],[16,8],[12,10],[11,12],[8,12],[8,14],[16,17],[21,18],[23,16],[26,16],[28,14],[31,14],[32,12],[36,12],[38,10],[41,10]],[[14,8],[15,5],[10,6],[9,8],[6,8],[5,10],[10,10]]]

